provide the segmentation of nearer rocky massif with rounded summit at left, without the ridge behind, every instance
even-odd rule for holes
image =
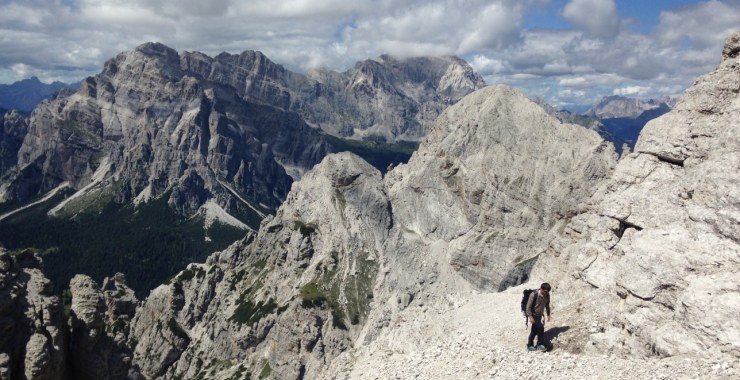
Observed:
[[[260,204],[277,207],[290,187],[278,161],[310,167],[325,149],[294,114],[201,83],[180,67],[177,52],[149,43],[34,111],[2,193],[25,200],[66,182],[85,189],[82,199],[166,195],[188,216],[215,199],[226,210],[260,214]]]

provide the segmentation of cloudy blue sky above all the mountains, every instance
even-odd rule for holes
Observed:
[[[0,83],[67,83],[147,42],[259,50],[296,72],[452,54],[575,109],[680,96],[740,30],[740,0],[0,0]]]

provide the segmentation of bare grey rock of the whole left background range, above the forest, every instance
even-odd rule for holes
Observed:
[[[0,202],[66,186],[77,193],[53,215],[167,197],[189,217],[213,200],[256,228],[293,179],[332,151],[320,129],[418,140],[444,108],[483,85],[454,57],[383,56],[305,76],[259,52],[211,58],[147,43],[36,108],[28,133],[4,128]]]

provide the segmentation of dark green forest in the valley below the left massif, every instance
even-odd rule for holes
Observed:
[[[71,219],[47,216],[63,196],[58,194],[0,220],[0,244],[11,251],[36,249],[57,293],[77,273],[100,283],[121,272],[137,297],[143,298],[187,264],[203,262],[245,235],[218,223],[206,231],[202,217],[176,215],[167,197],[138,207],[110,202],[100,212],[80,213]],[[11,209],[11,205],[2,206]]]

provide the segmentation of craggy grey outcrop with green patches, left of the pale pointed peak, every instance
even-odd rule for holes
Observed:
[[[312,377],[361,334],[390,227],[380,173],[328,156],[259,233],[151,293],[136,363],[149,378]]]

